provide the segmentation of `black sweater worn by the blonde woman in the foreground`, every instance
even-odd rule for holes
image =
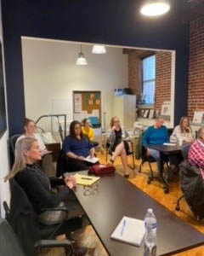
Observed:
[[[44,208],[53,208],[60,201],[66,201],[70,189],[61,189],[59,193],[51,191],[52,186],[63,185],[61,178],[48,178],[37,165],[26,166],[22,172],[15,175],[15,180],[24,189],[34,211],[39,214]]]

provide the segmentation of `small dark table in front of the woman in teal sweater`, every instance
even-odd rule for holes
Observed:
[[[163,176],[163,167],[164,167],[164,155],[173,155],[173,154],[180,154],[181,147],[176,144],[175,146],[167,146],[167,145],[147,145],[146,148],[151,148],[158,150],[160,153],[160,177],[162,180],[162,183],[164,185],[164,192],[168,193],[169,187],[166,178]]]

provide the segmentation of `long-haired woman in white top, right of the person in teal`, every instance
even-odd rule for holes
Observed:
[[[171,143],[176,143],[179,140],[183,140],[186,143],[192,143],[194,140],[190,128],[190,121],[186,116],[180,119],[179,125],[174,128],[173,134],[170,137]]]

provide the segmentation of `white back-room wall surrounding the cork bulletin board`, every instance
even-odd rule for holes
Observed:
[[[127,87],[127,55],[122,48],[106,47],[106,54],[94,55],[91,45],[82,45],[88,65],[77,66],[79,44],[35,38],[22,38],[21,42],[27,117],[36,120],[51,113],[53,98],[67,99],[67,119],[71,121],[72,90],[101,90],[102,116],[107,113],[109,125],[113,91]]]

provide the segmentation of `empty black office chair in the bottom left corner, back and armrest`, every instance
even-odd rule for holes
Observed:
[[[18,238],[14,234],[14,230],[12,230],[11,226],[3,218],[0,218],[0,247],[1,256],[26,256],[22,247],[20,246]],[[70,249],[70,253],[66,255],[71,256],[73,253],[71,242],[67,240],[41,240],[37,241],[35,247],[39,249],[43,247],[64,247],[66,249]]]

